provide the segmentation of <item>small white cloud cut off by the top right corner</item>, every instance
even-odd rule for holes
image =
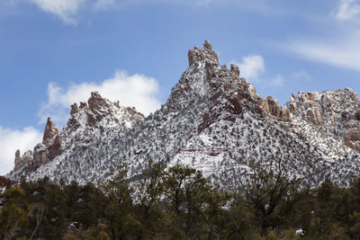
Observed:
[[[355,18],[360,13],[358,0],[339,0],[338,9],[333,15],[340,21],[347,21]]]

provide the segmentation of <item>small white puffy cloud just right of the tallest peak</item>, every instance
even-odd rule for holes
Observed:
[[[259,55],[250,55],[242,58],[241,63],[232,61],[240,68],[240,76],[249,81],[258,81],[258,76],[265,72],[264,58]]]

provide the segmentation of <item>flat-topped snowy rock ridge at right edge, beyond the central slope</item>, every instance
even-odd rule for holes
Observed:
[[[360,152],[360,104],[352,89],[302,92],[297,98],[292,95],[286,107],[298,120],[310,121],[327,137],[339,138],[347,147]]]

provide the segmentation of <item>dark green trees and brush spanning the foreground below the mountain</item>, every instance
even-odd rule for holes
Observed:
[[[280,163],[254,168],[236,192],[152,162],[137,179],[120,166],[97,186],[23,180],[4,193],[0,238],[360,239],[360,179],[310,189]]]

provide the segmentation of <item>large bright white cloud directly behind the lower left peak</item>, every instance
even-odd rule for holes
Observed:
[[[74,102],[86,102],[90,93],[94,91],[98,91],[112,102],[120,101],[121,106],[135,106],[145,115],[160,107],[156,79],[138,74],[129,76],[126,72],[117,71],[112,78],[104,80],[101,84],[71,84],[64,90],[57,84],[50,83],[48,101],[39,112],[40,123],[45,123],[50,116],[58,126],[65,124],[69,117],[70,105]]]

